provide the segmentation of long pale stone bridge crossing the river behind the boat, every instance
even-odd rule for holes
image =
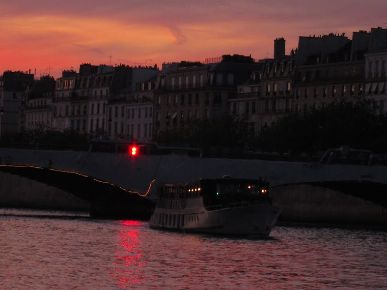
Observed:
[[[97,204],[101,207],[107,205],[112,190],[120,196],[119,199],[132,196],[130,192],[137,192],[137,196],[148,193],[147,196],[152,197],[155,193],[155,188],[151,186],[154,180],[187,182],[223,175],[253,179],[262,177],[270,182],[271,193],[283,209],[283,220],[387,224],[387,166],[383,165],[192,158],[178,155],[131,157],[114,153],[19,149],[0,149],[0,164],[8,165],[0,169],[3,175],[12,173],[14,176],[35,179],[71,192],[92,204],[96,204],[95,195],[98,195]],[[10,169],[9,165],[38,168],[31,167],[27,170],[29,173],[26,173],[25,169],[21,169],[23,167]],[[35,173],[32,172],[36,170],[44,172],[45,177],[34,178]],[[70,184],[74,189],[70,188]],[[104,184],[108,184],[108,187]],[[0,194],[4,195],[10,188],[0,187],[3,192]],[[110,197],[107,199],[106,196]],[[122,202],[124,204],[127,202]]]

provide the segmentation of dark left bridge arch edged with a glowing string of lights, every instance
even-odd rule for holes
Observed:
[[[139,219],[149,218],[154,207],[153,202],[145,197],[151,185],[148,192],[141,194],[71,171],[30,165],[0,165],[0,171],[3,172],[2,179],[10,181],[4,183],[4,192],[6,190],[17,192],[14,197],[19,197],[10,200],[8,195],[9,205],[17,205],[19,202],[21,205],[35,204],[38,207],[51,205],[58,208],[57,199],[59,198],[59,200],[66,200],[67,203],[74,202],[75,205],[80,204],[83,207],[87,207],[89,204],[90,214],[94,217]],[[22,188],[17,186],[21,182]],[[42,199],[42,193],[39,190],[43,189],[45,195],[51,198],[50,200]],[[47,190],[54,192],[49,194]],[[54,193],[60,194],[60,196],[57,196],[56,199],[53,197]],[[68,194],[74,197],[70,198]]]

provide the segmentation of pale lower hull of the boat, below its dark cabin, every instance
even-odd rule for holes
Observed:
[[[261,236],[270,234],[280,209],[269,204],[208,211],[202,209],[157,209],[149,225],[152,228],[238,236]]]

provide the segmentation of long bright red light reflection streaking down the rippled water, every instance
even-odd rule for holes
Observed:
[[[141,240],[139,231],[135,226],[141,225],[139,221],[120,221],[122,230],[118,234],[119,243],[117,252],[117,262],[113,268],[113,278],[118,280],[117,286],[127,287],[139,284],[144,281],[141,269],[146,262],[142,262]]]

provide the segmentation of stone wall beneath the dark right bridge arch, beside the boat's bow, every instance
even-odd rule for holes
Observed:
[[[387,226],[387,208],[330,188],[309,184],[270,188],[279,221]]]

